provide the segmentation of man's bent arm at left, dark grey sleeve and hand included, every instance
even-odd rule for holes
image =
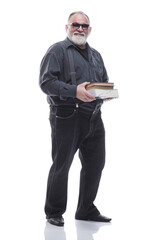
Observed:
[[[60,65],[55,54],[47,54],[42,60],[39,78],[40,87],[45,94],[59,96],[61,100],[66,99],[66,97],[77,97],[84,102],[95,100],[95,97],[85,89],[88,82],[78,86],[64,83],[59,81],[60,71]]]

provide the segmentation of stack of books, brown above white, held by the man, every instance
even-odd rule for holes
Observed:
[[[86,90],[96,98],[118,98],[118,90],[114,89],[114,83],[94,82],[86,85]]]

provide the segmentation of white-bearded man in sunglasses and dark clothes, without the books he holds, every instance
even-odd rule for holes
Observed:
[[[105,163],[105,132],[100,111],[103,100],[85,89],[89,82],[108,82],[108,76],[101,55],[86,42],[91,32],[88,16],[83,12],[71,13],[66,32],[64,41],[48,49],[40,69],[40,87],[50,104],[52,129],[53,165],[48,177],[46,218],[53,225],[64,225],[68,172],[79,149],[82,170],[75,218],[110,222],[93,204]],[[76,83],[70,74],[68,49],[74,61]]]

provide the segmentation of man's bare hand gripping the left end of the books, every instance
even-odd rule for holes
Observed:
[[[84,82],[77,86],[76,97],[83,102],[92,102],[96,100],[96,98],[85,89],[87,84],[89,84],[89,82]]]

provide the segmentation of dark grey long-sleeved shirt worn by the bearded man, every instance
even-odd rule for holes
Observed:
[[[77,85],[83,82],[108,82],[108,75],[98,51],[86,44],[85,57],[68,38],[53,44],[46,52],[40,66],[39,83],[50,104],[69,104],[76,99]],[[73,85],[67,49],[71,48],[77,85]]]

